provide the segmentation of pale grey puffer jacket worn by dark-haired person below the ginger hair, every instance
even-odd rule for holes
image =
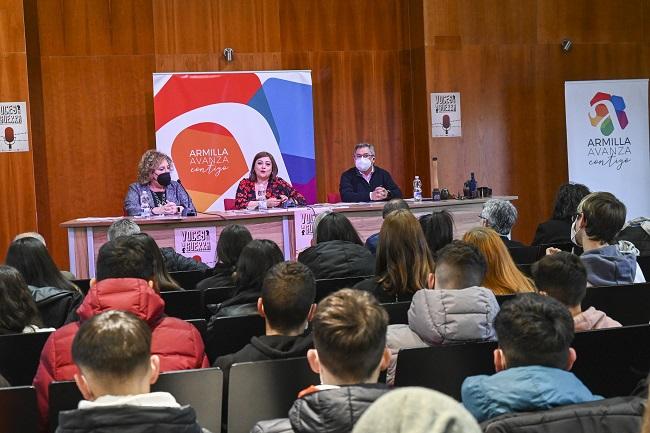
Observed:
[[[418,290],[408,311],[408,325],[389,325],[386,346],[391,351],[387,383],[395,380],[401,349],[470,341],[496,340],[492,323],[499,304],[490,289]]]

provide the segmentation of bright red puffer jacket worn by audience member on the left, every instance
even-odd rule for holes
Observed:
[[[80,322],[108,310],[129,311],[145,320],[152,331],[151,354],[160,357],[160,371],[209,367],[199,331],[183,320],[166,317],[165,301],[145,280],[113,278],[90,288],[77,309]],[[80,322],[69,323],[48,338],[34,377],[41,427],[47,425],[50,382],[72,380],[77,367],[72,361],[72,340]]]

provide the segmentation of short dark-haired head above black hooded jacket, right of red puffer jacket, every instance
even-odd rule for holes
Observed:
[[[281,262],[266,273],[257,310],[267,335],[300,335],[316,310],[316,279],[302,263]]]

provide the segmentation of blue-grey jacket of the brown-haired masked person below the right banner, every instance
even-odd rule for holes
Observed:
[[[629,242],[585,251],[580,256],[587,268],[587,282],[592,286],[632,284],[636,276],[636,255]],[[633,248],[633,246],[632,246]]]

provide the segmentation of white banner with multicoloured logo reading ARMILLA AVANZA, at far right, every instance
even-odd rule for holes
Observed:
[[[650,215],[648,80],[564,84],[569,180],[609,191],[627,219]]]

